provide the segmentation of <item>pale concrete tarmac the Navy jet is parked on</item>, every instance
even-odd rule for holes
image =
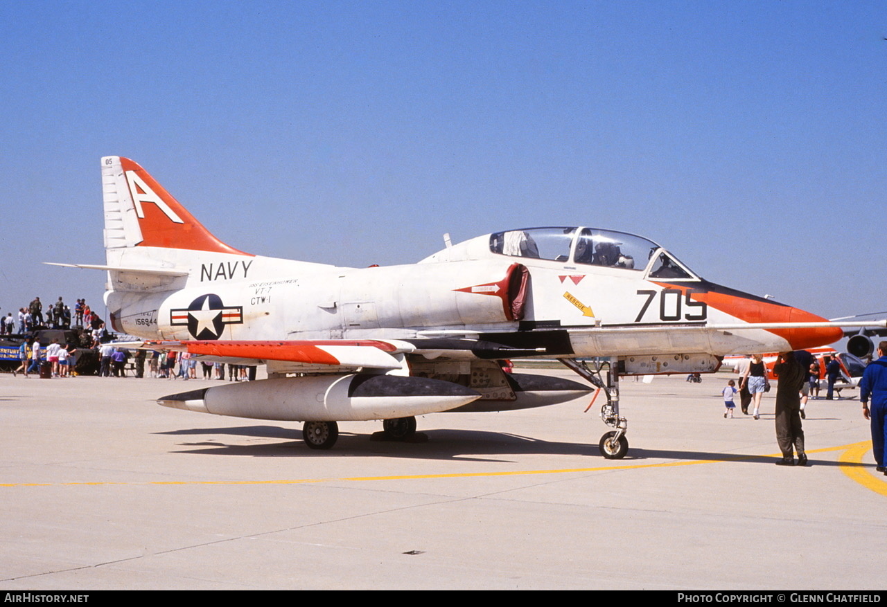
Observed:
[[[813,465],[783,468],[775,391],[761,420],[724,419],[730,377],[624,381],[631,448],[606,460],[588,398],[421,416],[427,442],[343,423],[318,452],[296,424],[154,403],[221,381],[3,374],[0,583],[883,589],[887,477],[858,399],[811,401]]]

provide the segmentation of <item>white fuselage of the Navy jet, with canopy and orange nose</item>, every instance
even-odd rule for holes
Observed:
[[[134,250],[157,259],[151,247]],[[151,276],[138,291],[106,294],[117,331],[145,339],[481,336],[538,348],[540,356],[723,356],[841,337],[833,327],[711,328],[824,319],[711,284],[654,242],[611,230],[510,230],[416,264],[372,268],[194,251],[176,260],[164,253],[182,276]]]

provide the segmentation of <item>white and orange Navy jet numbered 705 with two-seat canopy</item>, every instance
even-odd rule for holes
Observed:
[[[267,365],[268,379],[158,402],[303,422],[312,448],[333,446],[338,421],[383,420],[389,436],[404,437],[417,415],[541,407],[593,389],[499,364],[540,357],[604,391],[600,415],[613,430],[600,451],[623,457],[620,376],[714,371],[726,354],[843,335],[837,323],[712,284],[655,242],[613,230],[506,230],[383,268],[244,253],[132,160],[108,156],[101,167],[106,265],[74,267],[108,272],[114,330],[145,348]]]

